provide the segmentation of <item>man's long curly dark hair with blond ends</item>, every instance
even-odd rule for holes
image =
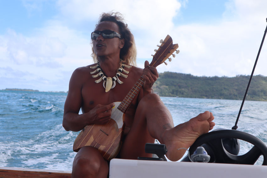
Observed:
[[[123,22],[124,19],[122,17],[122,14],[119,12],[102,13],[98,24],[103,21],[115,22],[119,26],[119,33],[121,35],[121,38],[125,39],[124,46],[120,51],[120,59],[122,59],[123,63],[125,64],[136,66],[136,47],[134,42],[134,35],[131,33],[128,25]],[[98,24],[96,24],[96,26]],[[98,57],[95,55],[93,48],[92,51],[93,53],[91,54],[91,57],[93,57],[94,62],[97,62]]]

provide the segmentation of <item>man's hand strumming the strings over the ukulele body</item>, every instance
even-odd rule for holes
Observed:
[[[88,124],[105,124],[111,117],[112,108],[114,103],[109,105],[96,105],[91,111],[88,112]]]

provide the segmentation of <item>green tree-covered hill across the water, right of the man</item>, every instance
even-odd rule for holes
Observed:
[[[197,77],[191,74],[164,72],[153,85],[160,96],[242,100],[249,75],[236,77]],[[246,100],[267,101],[267,77],[253,76]]]

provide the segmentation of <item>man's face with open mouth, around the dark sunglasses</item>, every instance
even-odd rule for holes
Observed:
[[[120,34],[119,27],[115,22],[103,21],[100,22],[95,31],[112,30]],[[93,49],[97,57],[119,57],[120,50],[123,47],[121,39],[111,38],[105,39],[99,35],[93,40]]]

